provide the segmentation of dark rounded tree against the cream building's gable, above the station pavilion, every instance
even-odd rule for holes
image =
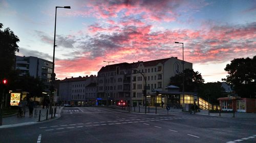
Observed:
[[[184,91],[185,92],[196,92],[199,90],[203,84],[204,79],[202,78],[201,73],[194,71],[193,69],[184,70]],[[176,85],[182,91],[182,73],[176,74],[173,77],[170,77],[169,85]]]

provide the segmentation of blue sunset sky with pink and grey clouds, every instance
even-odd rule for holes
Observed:
[[[193,63],[205,82],[222,81],[235,58],[256,55],[256,1],[0,0],[0,23],[19,38],[20,56],[52,61],[57,8],[58,79],[97,75],[103,61],[172,56]]]

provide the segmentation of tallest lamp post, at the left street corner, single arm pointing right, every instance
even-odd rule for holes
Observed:
[[[52,81],[51,81],[51,94],[50,94],[50,112],[52,114],[52,103],[53,103],[53,95],[54,95],[54,81],[56,74],[54,73],[54,59],[55,59],[55,37],[56,37],[56,15],[57,15],[57,8],[65,8],[70,9],[70,6],[65,7],[55,7],[55,25],[54,25],[54,41],[53,41],[53,58],[52,58]]]

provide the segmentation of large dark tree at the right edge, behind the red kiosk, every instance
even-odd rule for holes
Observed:
[[[222,80],[230,84],[232,90],[241,97],[256,98],[256,55],[252,59],[234,59],[224,70],[229,75]]]

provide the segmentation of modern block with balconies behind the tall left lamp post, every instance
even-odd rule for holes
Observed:
[[[29,74],[33,77],[39,77],[47,86],[46,91],[50,92],[52,62],[37,58],[35,56],[17,56],[15,60],[15,69],[21,71],[20,76]]]

